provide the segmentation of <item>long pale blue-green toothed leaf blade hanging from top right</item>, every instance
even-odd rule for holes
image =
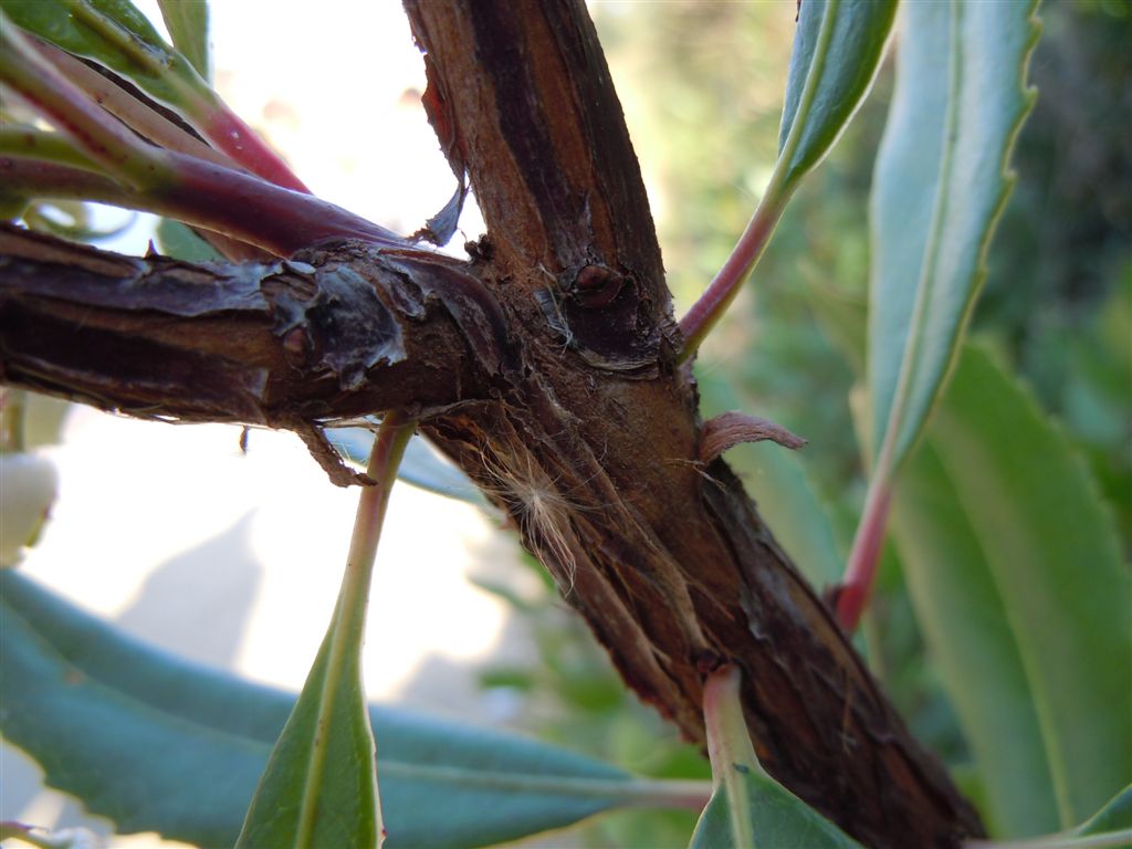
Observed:
[[[1013,186],[1010,152],[1035,100],[1023,80],[1036,6],[903,7],[871,201],[869,448],[882,475],[920,434],[984,277]]]

